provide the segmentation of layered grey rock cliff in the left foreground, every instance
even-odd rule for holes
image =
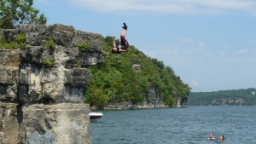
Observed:
[[[91,143],[86,67],[104,61],[102,36],[56,24],[2,29],[0,38],[19,43],[20,33],[25,48],[0,49],[0,143]]]

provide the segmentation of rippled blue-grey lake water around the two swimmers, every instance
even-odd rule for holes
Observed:
[[[201,107],[101,111],[90,124],[93,144],[252,144],[256,107]],[[206,140],[213,133],[225,141]]]

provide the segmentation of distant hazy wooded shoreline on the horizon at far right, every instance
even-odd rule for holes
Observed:
[[[256,89],[232,89],[213,92],[192,92],[190,106],[255,106]]]

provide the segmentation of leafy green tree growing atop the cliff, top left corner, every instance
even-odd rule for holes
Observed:
[[[33,0],[1,0],[0,28],[13,29],[23,24],[45,24],[46,17],[32,7]],[[39,15],[38,15],[39,14]]]

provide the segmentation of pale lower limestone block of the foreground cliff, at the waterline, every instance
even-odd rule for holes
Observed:
[[[34,104],[22,112],[21,143],[91,143],[88,105]]]

